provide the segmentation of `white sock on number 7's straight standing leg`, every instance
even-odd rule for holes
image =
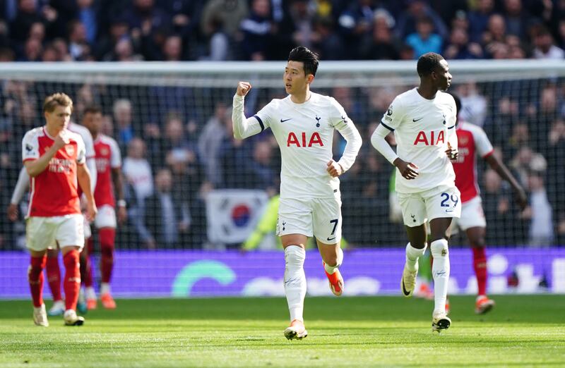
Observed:
[[[304,297],[306,296],[306,275],[304,274],[306,252],[298,245],[285,248],[285,294],[287,295],[290,321],[304,321]]]

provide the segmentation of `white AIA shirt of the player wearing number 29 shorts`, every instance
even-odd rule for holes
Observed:
[[[417,88],[413,88],[393,100],[381,124],[394,132],[398,157],[418,167],[419,174],[412,180],[397,172],[397,192],[415,193],[439,185],[455,186],[453,165],[445,153],[448,141],[453,149],[458,147],[456,105],[451,94],[438,91],[434,99],[424,99]]]

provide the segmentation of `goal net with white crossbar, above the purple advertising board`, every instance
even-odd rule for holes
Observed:
[[[3,64],[3,210],[20,171],[23,134],[43,124],[44,97],[65,92],[74,102],[71,120],[80,123],[87,106],[100,106],[103,131],[121,149],[129,218],[118,228],[118,250],[277,249],[278,146],[270,131],[236,141],[230,127],[237,82],[253,85],[245,102],[251,116],[284,97],[284,67],[284,61]],[[528,191],[522,211],[509,185],[477,159],[487,245],[564,245],[565,64],[451,61],[450,68],[451,92],[463,104],[460,117],[484,129],[495,154]],[[407,242],[393,167],[371,147],[370,136],[392,99],[417,82],[412,61],[322,61],[311,85],[335,97],[363,137],[355,165],[340,178],[343,245],[352,249],[400,249]],[[344,147],[336,133],[335,159]],[[25,213],[26,198],[18,205]],[[468,247],[468,240],[454,235],[451,247]],[[24,248],[23,217],[12,222],[1,216],[0,249]]]

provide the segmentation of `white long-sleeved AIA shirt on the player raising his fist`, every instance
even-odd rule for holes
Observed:
[[[347,140],[338,161],[345,171],[355,161],[362,142],[343,107],[333,97],[311,92],[307,102],[295,104],[290,95],[273,99],[256,115],[244,119],[243,101],[237,94],[234,96],[235,133],[244,138],[266,128],[273,130],[282,161],[280,197],[335,197],[340,181],[326,171],[327,163],[333,157],[334,129]]]

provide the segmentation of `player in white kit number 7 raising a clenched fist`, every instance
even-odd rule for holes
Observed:
[[[361,135],[332,97],[310,91],[318,55],[306,47],[290,51],[283,75],[288,96],[273,99],[251,118],[244,116],[249,82],[239,82],[233,98],[234,137],[244,139],[270,128],[280,147],[280,205],[277,235],[285,248],[285,294],[290,311],[289,340],[307,336],[304,328],[304,245],[316,237],[323,266],[335,295],[343,293],[338,267],[343,262],[341,195],[338,176],[347,171],[361,148]],[[339,161],[332,159],[333,132],[347,140]]]

